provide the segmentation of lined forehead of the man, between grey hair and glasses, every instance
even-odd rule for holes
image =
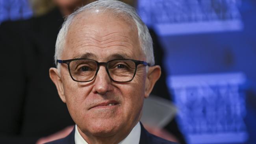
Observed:
[[[137,59],[142,52],[136,25],[127,17],[109,12],[78,14],[67,33],[63,58],[72,59],[87,53],[95,58],[119,54]]]

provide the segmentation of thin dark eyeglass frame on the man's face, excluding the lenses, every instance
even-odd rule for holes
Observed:
[[[71,71],[70,71],[70,65],[69,65],[70,62],[75,61],[75,60],[91,60],[91,61],[95,61],[95,60],[93,60],[93,59],[83,59],[83,58],[79,58],[79,59],[67,59],[67,60],[59,60],[59,59],[57,59],[57,60],[56,60],[56,64],[58,64],[58,63],[65,63],[65,64],[67,64],[67,65],[68,65],[68,69],[69,69],[69,75],[70,75],[70,77],[72,78],[72,80],[73,80],[73,81],[77,81],[77,82],[82,82],[82,83],[83,83],[83,82],[93,81],[93,79],[95,79],[96,76],[97,76],[97,74],[98,74],[98,70],[100,69],[100,65],[104,65],[104,66],[105,66],[105,69],[106,69],[106,71],[107,71],[107,73],[108,73],[109,78],[110,78],[112,81],[115,81],[114,79],[111,78],[111,76],[110,76],[110,74],[109,74],[109,71],[108,71],[108,68],[107,68],[107,67],[108,67],[108,63],[111,62],[111,61],[116,61],[116,60],[130,60],[130,61],[133,61],[133,62],[135,63],[135,70],[134,70],[134,75],[132,76],[132,79],[130,79],[129,81],[115,81],[115,82],[119,82],[119,83],[125,83],[125,82],[130,82],[130,81],[132,81],[132,80],[134,79],[134,77],[135,77],[135,74],[136,74],[137,66],[138,66],[138,65],[150,66],[150,64],[147,63],[147,62],[145,62],[145,61],[138,61],[138,60],[134,60],[134,59],[113,59],[113,60],[108,61],[108,62],[98,62],[98,61],[95,61],[96,64],[97,64],[97,69],[96,69],[96,72],[95,72],[95,76],[94,76],[91,80],[89,80],[89,81],[78,81],[78,80],[76,80],[76,79],[74,79],[74,78],[72,77],[72,74],[71,74]]]

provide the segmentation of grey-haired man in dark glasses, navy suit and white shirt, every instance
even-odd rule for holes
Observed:
[[[161,69],[154,66],[148,29],[131,6],[99,0],[69,15],[55,60],[50,78],[76,126],[51,144],[173,144],[139,122]]]

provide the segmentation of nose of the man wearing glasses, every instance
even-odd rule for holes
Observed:
[[[93,92],[96,94],[106,94],[111,88],[111,79],[108,76],[106,68],[100,66],[97,76],[95,78]]]

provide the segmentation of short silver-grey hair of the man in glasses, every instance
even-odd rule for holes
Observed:
[[[61,54],[65,47],[66,37],[67,37],[69,27],[72,24],[76,15],[84,11],[96,10],[96,9],[100,9],[102,11],[110,11],[113,14],[119,14],[119,15],[122,14],[127,16],[131,20],[133,20],[135,22],[135,25],[137,26],[140,46],[142,48],[143,53],[146,56],[147,62],[150,65],[155,64],[152,38],[150,36],[147,26],[141,20],[136,10],[134,9],[134,7],[129,6],[128,4],[124,4],[123,2],[120,2],[117,0],[98,0],[86,6],[80,7],[74,13],[69,15],[66,18],[65,22],[63,23],[62,28],[59,31],[59,34],[57,37],[57,41],[55,45],[56,49],[55,49],[55,55],[54,55],[55,62],[57,59],[61,58]]]

